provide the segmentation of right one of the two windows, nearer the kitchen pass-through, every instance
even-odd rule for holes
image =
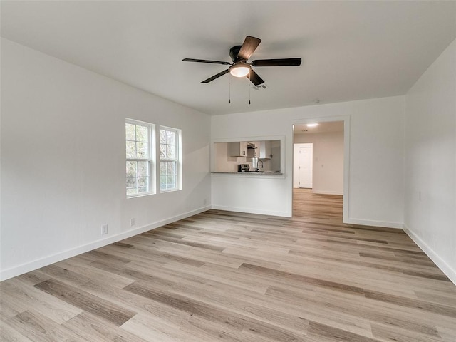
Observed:
[[[180,130],[160,126],[160,192],[180,190]]]

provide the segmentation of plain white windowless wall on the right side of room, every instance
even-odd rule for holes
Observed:
[[[456,284],[456,41],[408,91],[405,228]]]

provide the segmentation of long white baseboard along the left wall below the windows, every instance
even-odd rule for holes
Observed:
[[[179,214],[175,217],[170,217],[168,219],[162,219],[158,222],[153,222],[151,224],[147,224],[142,227],[138,227],[135,229],[130,229],[128,232],[122,232],[120,234],[115,234],[110,237],[106,237],[105,239],[100,239],[95,242],[90,242],[89,244],[84,244],[83,246],[75,247],[72,249],[68,249],[66,251],[50,255],[48,257],[44,257],[41,259],[33,260],[27,262],[26,264],[21,264],[19,266],[14,266],[9,269],[4,269],[0,271],[0,281],[10,279],[14,276],[19,276],[26,272],[33,271],[35,269],[40,269],[41,267],[48,266],[58,261],[62,261],[71,257],[75,257],[78,254],[89,252],[93,249],[97,249],[107,244],[113,244],[114,242],[118,242],[123,239],[127,239],[128,237],[133,237],[135,235],[141,234],[143,232],[147,232],[148,230],[155,229],[158,227],[162,227],[165,224],[170,224],[172,222],[179,221],[180,219],[185,219],[187,217],[199,214],[201,212],[205,212],[211,209],[210,206],[202,207],[199,209],[192,210],[191,212],[185,212],[183,214]]]

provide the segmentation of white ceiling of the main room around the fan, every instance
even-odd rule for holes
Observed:
[[[456,38],[456,1],[0,1],[1,36],[211,115],[403,95]],[[252,59],[303,58],[202,80],[245,36]]]

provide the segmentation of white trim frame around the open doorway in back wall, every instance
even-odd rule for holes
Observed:
[[[350,116],[328,116],[322,118],[302,118],[293,120],[291,123],[291,131],[293,132],[294,125],[306,125],[307,123],[331,123],[333,121],[343,121],[343,214],[342,222],[348,223],[348,204],[350,203]],[[294,139],[293,139],[294,140]],[[294,141],[291,142],[291,160],[294,161]],[[294,167],[291,167],[291,172],[294,172]],[[291,203],[293,203],[293,179],[291,175]],[[291,216],[293,216],[293,205],[291,205]]]

